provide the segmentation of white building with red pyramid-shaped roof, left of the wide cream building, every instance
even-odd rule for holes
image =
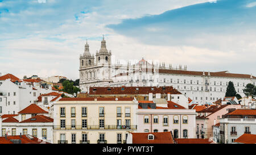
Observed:
[[[2,115],[0,127],[2,136],[32,135],[48,143],[53,142],[53,119],[36,104],[19,111],[18,115]]]

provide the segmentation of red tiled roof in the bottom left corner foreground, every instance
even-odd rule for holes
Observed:
[[[40,140],[33,136],[28,135],[21,135],[20,136],[6,136],[7,139],[5,139],[5,136],[0,137],[0,144],[14,144],[11,140],[21,140],[21,144],[50,144],[46,141]]]

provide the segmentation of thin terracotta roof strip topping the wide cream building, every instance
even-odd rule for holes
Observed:
[[[61,98],[59,101],[67,100],[94,100],[94,98]],[[97,100],[116,100],[116,98],[97,98]],[[118,98],[118,100],[133,100],[133,98]]]

